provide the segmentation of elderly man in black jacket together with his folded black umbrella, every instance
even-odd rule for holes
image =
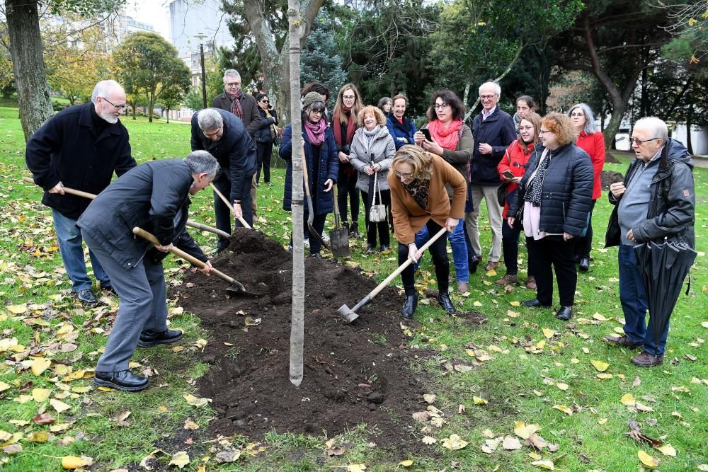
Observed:
[[[695,258],[693,161],[683,144],[668,137],[666,123],[656,117],[637,121],[631,139],[636,159],[629,164],[624,182],[610,185],[610,203],[615,209],[605,238],[606,247],[619,246],[624,336],[603,340],[619,347],[641,347],[632,364],[653,367],[663,362],[668,318]],[[663,243],[665,238],[670,243]],[[686,255],[685,263],[663,261],[666,265],[655,264],[658,271],[647,270],[643,275],[651,258],[656,263],[667,253],[674,258]],[[662,300],[658,309],[654,301]],[[651,329],[644,323],[647,309]]]

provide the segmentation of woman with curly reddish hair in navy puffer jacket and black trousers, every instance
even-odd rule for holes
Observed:
[[[509,199],[507,223],[513,228],[518,209],[523,208],[520,217],[537,288],[536,298],[521,304],[551,306],[555,270],[561,304],[556,318],[568,321],[578,282],[573,238],[585,229],[590,212],[593,164],[586,151],[574,144],[575,129],[566,115],[546,115],[539,137],[542,146],[532,152],[519,191]]]

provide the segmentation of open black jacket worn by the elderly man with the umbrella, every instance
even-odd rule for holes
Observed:
[[[691,248],[695,248],[695,209],[696,194],[693,181],[693,161],[686,147],[675,139],[668,139],[661,151],[661,161],[656,175],[651,179],[649,189],[649,210],[646,221],[632,228],[637,243],[661,240],[667,236],[683,239]],[[644,162],[634,159],[629,164],[624,182],[629,182],[632,174]],[[612,196],[610,203],[615,205],[610,215],[610,223],[605,234],[605,247],[619,246],[619,219],[617,204],[622,199]]]

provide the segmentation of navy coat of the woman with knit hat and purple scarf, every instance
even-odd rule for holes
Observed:
[[[305,161],[307,162],[307,178],[310,195],[313,198],[314,211],[316,214],[328,214],[334,211],[333,192],[324,192],[324,183],[327,179],[332,179],[337,183],[337,173],[339,171],[339,158],[337,154],[337,143],[334,141],[334,133],[331,128],[324,130],[324,142],[319,146],[319,155],[313,156],[313,146],[307,140],[307,133],[302,126],[302,140],[305,142]],[[282,142],[278,150],[280,159],[287,161],[285,170],[285,192],[282,197],[282,209],[290,211],[292,207],[292,125],[287,125],[282,131]],[[314,161],[317,161],[317,175],[314,175]],[[315,180],[316,179],[316,180]],[[305,207],[307,212],[307,207]]]

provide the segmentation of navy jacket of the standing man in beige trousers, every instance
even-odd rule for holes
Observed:
[[[496,166],[499,165],[509,144],[516,140],[513,118],[498,105],[494,113],[484,121],[482,121],[482,114],[479,113],[472,120],[472,137],[474,148],[469,169],[470,182],[476,185],[501,185]],[[482,143],[492,147],[491,154],[479,152],[479,144]]]

